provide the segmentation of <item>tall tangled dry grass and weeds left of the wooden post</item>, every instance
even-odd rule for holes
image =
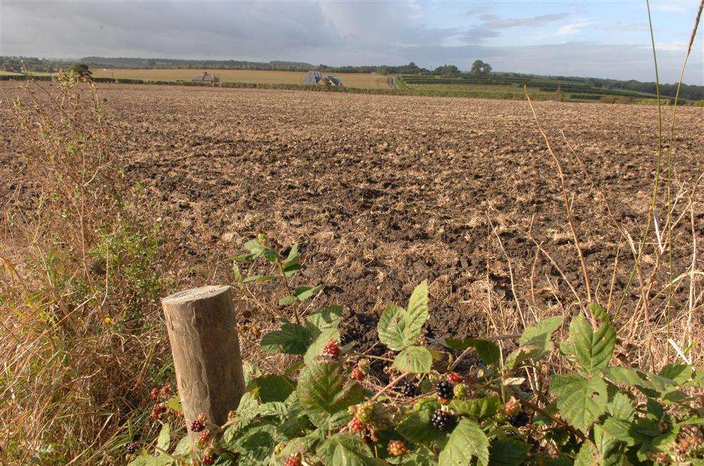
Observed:
[[[156,238],[92,84],[61,73],[3,100],[24,170],[1,212],[0,457],[94,464],[139,427],[160,377]]]

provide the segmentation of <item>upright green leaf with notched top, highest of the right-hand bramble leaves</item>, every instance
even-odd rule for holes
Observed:
[[[603,316],[596,332],[593,332],[582,314],[574,317],[570,325],[570,336],[561,346],[565,356],[574,360],[587,374],[595,369],[605,369],[616,344],[616,330],[608,316]]]

